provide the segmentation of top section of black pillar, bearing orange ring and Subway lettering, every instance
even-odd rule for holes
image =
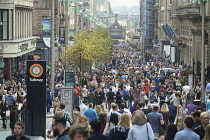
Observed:
[[[46,85],[46,61],[27,61],[27,85]]]

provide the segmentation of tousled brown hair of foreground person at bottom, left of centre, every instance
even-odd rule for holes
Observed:
[[[71,126],[70,131],[69,131],[69,137],[73,140],[76,133],[81,134],[85,138],[90,137],[90,132],[89,132],[88,128],[82,124],[77,123],[77,124]]]

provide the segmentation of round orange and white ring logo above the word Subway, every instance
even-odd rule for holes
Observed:
[[[40,77],[43,74],[43,67],[40,64],[33,64],[29,71],[31,76]]]

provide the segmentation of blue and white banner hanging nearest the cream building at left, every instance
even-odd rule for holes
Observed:
[[[47,18],[42,19],[42,35],[43,41],[47,47],[50,47],[50,31],[51,31],[51,20]]]

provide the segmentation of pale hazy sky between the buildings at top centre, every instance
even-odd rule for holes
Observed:
[[[133,5],[139,5],[139,0],[109,0],[111,2],[112,8],[128,6],[131,7]]]

